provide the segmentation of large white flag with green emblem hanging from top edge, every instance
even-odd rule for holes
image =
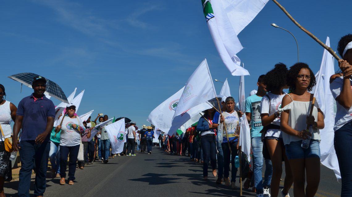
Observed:
[[[202,0],[204,16],[218,53],[232,75],[249,75],[240,66],[242,50],[237,35],[262,10],[268,0]]]

